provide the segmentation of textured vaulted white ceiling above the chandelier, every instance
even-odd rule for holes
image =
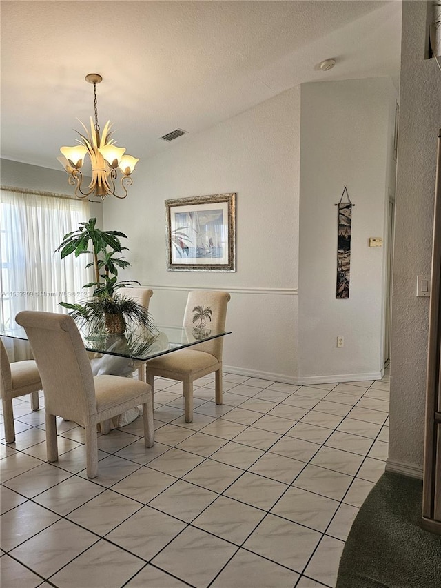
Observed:
[[[401,1],[13,1],[1,10],[1,156],[61,169],[93,114],[145,158],[288,88],[400,71]],[[318,64],[334,57],[336,66]],[[171,143],[161,136],[189,132]]]

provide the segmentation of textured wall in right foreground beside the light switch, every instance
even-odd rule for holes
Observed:
[[[387,469],[421,474],[429,298],[416,276],[430,274],[441,72],[424,59],[427,3],[405,1],[393,262],[389,460]]]

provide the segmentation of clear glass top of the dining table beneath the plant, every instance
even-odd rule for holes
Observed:
[[[79,331],[86,351],[141,362],[231,333],[231,331],[218,331],[214,328],[170,327],[164,325],[157,325],[156,329],[152,331],[126,331],[122,335],[90,333],[84,329],[79,329]],[[24,341],[28,339],[23,327],[18,326],[12,329],[0,330],[0,337],[22,339]]]

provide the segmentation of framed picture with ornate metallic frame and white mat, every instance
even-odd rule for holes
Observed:
[[[167,270],[236,272],[236,194],[165,201]]]

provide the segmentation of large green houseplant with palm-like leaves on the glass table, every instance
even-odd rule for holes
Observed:
[[[88,300],[79,304],[61,302],[61,306],[70,310],[70,315],[79,325],[87,327],[90,332],[123,334],[132,332],[136,327],[145,327],[153,331],[154,325],[147,309],[132,298],[118,293],[120,288],[132,287],[138,281],[118,281],[119,268],[128,267],[130,263],[119,256],[127,247],[121,246],[120,237],[127,235],[120,231],[102,231],[96,227],[96,219],[80,223],[79,230],[65,234],[56,251],[61,258],[74,254],[92,255],[92,261],[85,267],[94,268],[94,281],[83,285],[93,287]]]

